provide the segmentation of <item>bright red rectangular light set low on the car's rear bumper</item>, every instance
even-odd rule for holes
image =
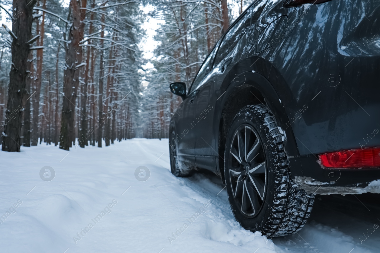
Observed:
[[[380,167],[380,148],[337,151],[319,155],[326,168]]]

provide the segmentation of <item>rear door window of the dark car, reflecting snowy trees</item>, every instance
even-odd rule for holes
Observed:
[[[215,57],[215,65],[220,63],[235,48],[237,42],[249,30],[251,24],[255,24],[268,0],[258,0],[243,17],[225,34]]]

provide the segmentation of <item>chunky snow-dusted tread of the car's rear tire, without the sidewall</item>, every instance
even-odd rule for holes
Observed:
[[[306,223],[310,217],[314,203],[314,195],[305,192],[296,185],[291,177],[287,162],[287,155],[279,132],[277,123],[268,110],[263,105],[247,105],[237,113],[236,116],[251,118],[255,114],[263,122],[269,145],[276,153],[275,157],[275,196],[272,203],[272,212],[261,229],[261,233],[268,237],[286,236],[296,233]]]

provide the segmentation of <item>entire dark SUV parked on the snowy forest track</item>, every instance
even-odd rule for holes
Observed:
[[[316,194],[380,193],[380,0],[256,0],[170,123],[171,171],[226,184],[245,229],[299,231]]]

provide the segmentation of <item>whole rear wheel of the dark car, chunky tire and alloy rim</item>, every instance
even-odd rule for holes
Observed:
[[[291,178],[279,127],[264,105],[237,113],[224,157],[228,199],[243,228],[276,237],[305,225],[314,196]]]

